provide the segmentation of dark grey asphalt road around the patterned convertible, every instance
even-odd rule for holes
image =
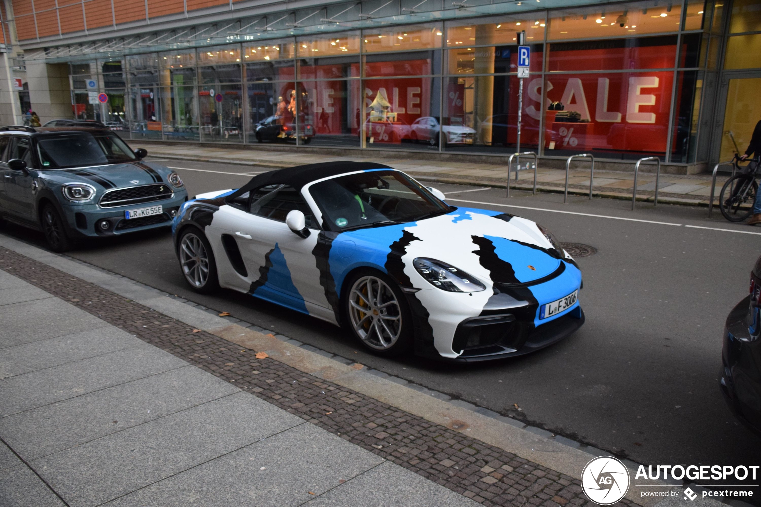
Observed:
[[[237,188],[250,173],[265,170],[161,163],[177,168],[190,195]],[[761,228],[728,223],[718,212],[708,220],[705,208],[642,203],[632,212],[627,201],[572,197],[562,204],[562,195],[515,192],[506,199],[504,189],[435,186],[451,204],[518,214],[563,242],[594,246],[596,255],[578,259],[584,327],[513,360],[386,360],[314,318],[231,291],[193,293],[167,231],[88,242],[69,255],[634,461],[758,464],[761,439],[725,407],[718,373],[724,318],[747,293],[750,269],[761,253]],[[6,231],[42,242],[21,228]]]

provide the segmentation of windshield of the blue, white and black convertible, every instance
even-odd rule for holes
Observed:
[[[334,230],[414,222],[454,209],[393,170],[326,179],[312,185],[309,192]]]

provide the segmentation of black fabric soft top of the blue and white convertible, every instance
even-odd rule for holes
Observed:
[[[228,199],[236,198],[266,185],[289,185],[296,190],[301,190],[301,187],[314,182],[316,179],[372,169],[393,169],[393,167],[374,162],[322,162],[286,167],[285,169],[257,174],[250,182],[233,192]]]

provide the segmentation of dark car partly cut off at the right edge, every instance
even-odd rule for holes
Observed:
[[[724,326],[721,392],[728,407],[761,436],[761,257],[750,273],[750,294],[732,309]]]

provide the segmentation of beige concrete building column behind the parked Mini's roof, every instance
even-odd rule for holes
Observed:
[[[52,119],[72,118],[72,90],[68,81],[67,63],[45,63],[28,59],[27,83],[32,110],[40,123]]]

